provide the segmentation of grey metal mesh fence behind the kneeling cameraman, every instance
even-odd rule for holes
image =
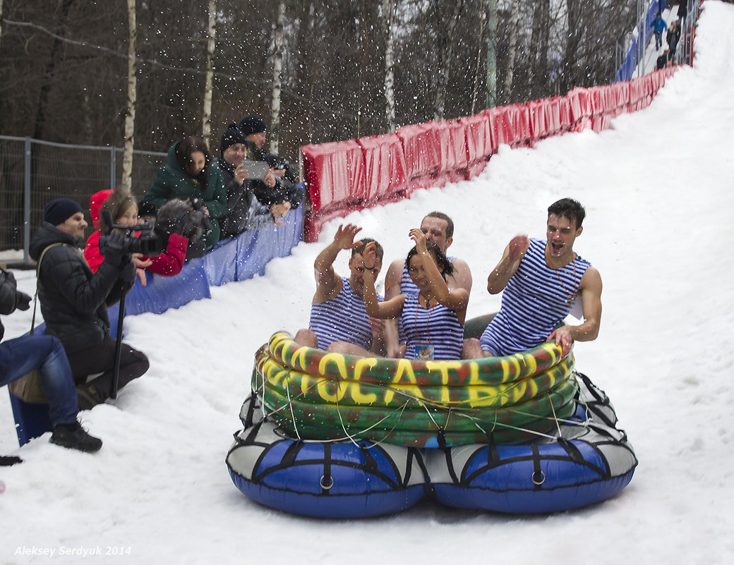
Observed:
[[[166,162],[166,153],[134,151],[132,191],[137,197]],[[92,194],[122,181],[123,150],[0,136],[0,167],[0,251],[23,249],[27,264],[30,237],[41,225],[46,203],[67,197],[88,210]],[[88,214],[87,221],[91,224]],[[87,229],[88,236],[92,226]]]

